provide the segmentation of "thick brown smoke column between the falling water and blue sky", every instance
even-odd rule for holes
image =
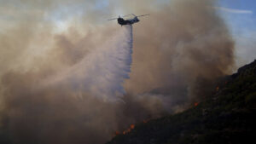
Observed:
[[[127,91],[161,95],[172,111],[205,95],[201,93],[207,89],[205,85],[231,72],[234,43],[212,9],[214,3],[173,1],[150,15],[154,20],[137,29]]]

